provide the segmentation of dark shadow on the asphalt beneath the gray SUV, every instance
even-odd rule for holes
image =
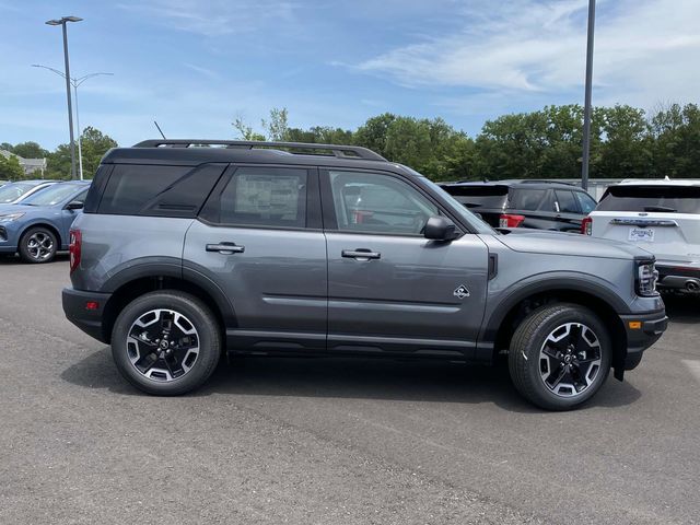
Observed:
[[[108,347],[93,352],[61,373],[86,388],[108,388],[142,395],[117,372]],[[235,396],[318,397],[421,402],[493,404],[503,410],[541,413],[513,387],[503,366],[468,366],[440,361],[397,361],[366,358],[233,358],[222,360],[207,384],[191,397]],[[608,380],[582,409],[619,407],[641,393],[629,382]]]

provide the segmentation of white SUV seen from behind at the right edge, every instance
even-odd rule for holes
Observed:
[[[582,231],[654,254],[660,289],[700,293],[700,180],[629,179],[610,186]]]

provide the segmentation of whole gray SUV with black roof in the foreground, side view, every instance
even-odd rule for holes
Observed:
[[[563,410],[622,380],[666,328],[654,257],[495,231],[413,170],[349,145],[149,140],[110,150],[70,234],[68,318],[149,394],[222,352],[508,354]]]

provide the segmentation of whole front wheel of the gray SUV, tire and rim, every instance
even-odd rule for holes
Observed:
[[[578,304],[542,306],[517,327],[509,351],[515,388],[547,410],[570,410],[587,401],[610,372],[607,328]]]

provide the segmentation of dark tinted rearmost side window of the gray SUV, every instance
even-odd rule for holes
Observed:
[[[224,167],[223,164],[197,167],[116,165],[105,186],[98,212],[196,217]]]

